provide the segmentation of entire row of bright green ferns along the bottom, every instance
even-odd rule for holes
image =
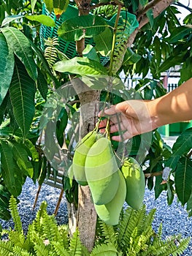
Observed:
[[[4,256],[177,256],[183,253],[190,241],[190,238],[183,239],[180,235],[164,241],[161,238],[162,225],[158,233],[152,228],[155,209],[147,214],[143,206],[139,211],[127,208],[115,227],[99,220],[95,246],[92,252],[88,252],[80,242],[78,230],[70,238],[67,226],[57,225],[55,217],[47,214],[47,203],[40,206],[37,217],[28,226],[27,236],[23,234],[14,197],[10,198],[9,208],[15,229],[1,232],[8,235],[6,241],[0,241],[0,255]]]

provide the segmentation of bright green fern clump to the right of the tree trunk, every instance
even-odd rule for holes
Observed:
[[[181,238],[181,235],[171,236],[167,240],[161,238],[162,225],[155,233],[152,222],[155,209],[147,214],[145,206],[139,211],[128,207],[123,212],[120,222],[112,227],[99,221],[96,235],[96,247],[93,255],[128,255],[128,256],[176,256],[187,248],[191,238]],[[177,245],[175,241],[178,241]],[[106,251],[108,246],[109,252]]]

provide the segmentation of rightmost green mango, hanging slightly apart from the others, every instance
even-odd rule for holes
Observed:
[[[126,179],[126,203],[135,210],[142,207],[145,195],[145,176],[139,163],[132,157],[128,157],[121,167]]]

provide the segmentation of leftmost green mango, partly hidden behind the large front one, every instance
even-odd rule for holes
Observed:
[[[85,177],[85,159],[91,146],[93,146],[93,144],[96,142],[97,137],[97,132],[88,132],[88,134],[85,135],[85,137],[83,137],[82,140],[80,140],[80,142],[77,144],[74,151],[73,173],[75,180],[81,186],[88,185]]]

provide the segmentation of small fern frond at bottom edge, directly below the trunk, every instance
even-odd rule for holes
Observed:
[[[117,253],[113,244],[101,244],[93,248],[90,256],[117,256]]]

